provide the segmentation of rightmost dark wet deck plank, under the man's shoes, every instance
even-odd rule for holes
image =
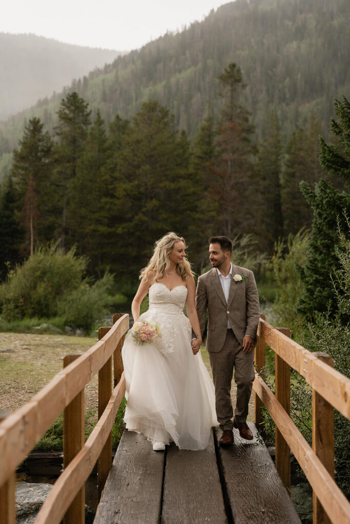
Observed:
[[[300,524],[287,490],[258,432],[248,422],[252,441],[240,438],[234,430],[235,443],[219,454],[222,473],[235,524]],[[219,439],[221,431],[216,430]]]

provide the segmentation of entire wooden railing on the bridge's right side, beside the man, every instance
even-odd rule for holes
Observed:
[[[253,383],[255,417],[263,429],[262,405],[275,422],[275,464],[290,490],[290,450],[313,489],[314,524],[350,523],[350,503],[334,482],[334,423],[337,409],[350,419],[350,380],[333,369],[325,354],[311,353],[290,340],[290,331],[273,328],[261,315]],[[263,380],[266,344],[275,352],[275,395]],[[290,367],[312,388],[312,447],[290,418]]]

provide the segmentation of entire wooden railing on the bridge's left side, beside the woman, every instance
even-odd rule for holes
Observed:
[[[121,360],[129,315],[113,316],[112,328],[99,329],[99,341],[83,355],[67,355],[63,370],[24,406],[0,424],[0,516],[16,523],[15,471],[63,411],[63,473],[41,507],[36,524],[83,524],[84,483],[98,461],[101,495],[111,467],[111,430],[125,392]],[[112,359],[114,390],[112,392]],[[83,389],[99,373],[99,420],[84,444]]]

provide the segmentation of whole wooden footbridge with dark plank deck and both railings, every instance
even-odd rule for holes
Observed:
[[[84,483],[98,462],[99,506],[95,524],[300,522],[289,498],[290,450],[313,488],[314,523],[350,524],[350,504],[334,482],[333,409],[350,418],[350,380],[327,355],[291,341],[289,330],[261,317],[256,348],[255,424],[251,442],[218,446],[213,430],[204,451],[172,444],[154,452],[142,435],[124,431],[112,463],[111,429],[125,392],[121,347],[129,315],[114,315],[112,328],[83,355],[68,355],[64,369],[0,424],[0,516],[15,524],[15,471],[63,411],[63,472],[41,507],[36,524],[83,524]],[[263,381],[265,348],[275,352],[275,395]],[[112,362],[114,390],[112,392]],[[289,416],[290,367],[312,388],[312,447]],[[84,443],[83,390],[99,374],[99,420]],[[256,427],[262,406],[276,424],[275,466]]]

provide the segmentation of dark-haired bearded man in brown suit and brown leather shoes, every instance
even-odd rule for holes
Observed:
[[[260,308],[252,271],[231,264],[230,239],[212,236],[209,243],[213,269],[198,278],[196,309],[201,333],[208,309],[206,348],[213,371],[216,414],[222,430],[219,444],[227,446],[234,442],[233,427],[238,428],[243,439],[253,438],[246,420],[254,380],[253,350]],[[230,391],[234,370],[237,403],[232,421]]]

